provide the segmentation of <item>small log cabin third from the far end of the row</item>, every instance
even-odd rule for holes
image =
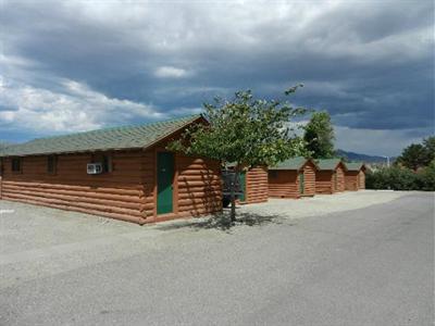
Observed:
[[[293,158],[269,168],[269,197],[301,198],[315,195],[314,161]]]

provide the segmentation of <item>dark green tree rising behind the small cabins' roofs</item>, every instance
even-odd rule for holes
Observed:
[[[321,111],[312,114],[310,122],[304,126],[303,140],[314,159],[327,159],[335,155],[335,136],[330,113]]]

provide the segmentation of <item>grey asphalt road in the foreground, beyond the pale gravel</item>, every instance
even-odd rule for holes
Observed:
[[[434,322],[433,193],[231,231],[167,231],[134,252],[11,283],[0,325]]]

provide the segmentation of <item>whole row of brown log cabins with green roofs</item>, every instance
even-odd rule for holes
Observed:
[[[0,152],[0,199],[145,224],[222,210],[221,162],[166,146],[201,116],[35,139]],[[364,166],[295,158],[244,175],[245,203],[364,188]]]

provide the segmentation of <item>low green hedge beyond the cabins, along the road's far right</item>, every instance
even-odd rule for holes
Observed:
[[[365,187],[368,189],[435,191],[435,164],[418,173],[398,166],[368,172]]]

